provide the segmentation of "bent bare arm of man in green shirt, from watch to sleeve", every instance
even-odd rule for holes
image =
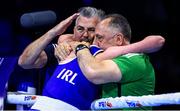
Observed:
[[[88,49],[77,54],[78,63],[85,77],[94,84],[105,84],[121,80],[121,71],[112,60],[100,61]]]

